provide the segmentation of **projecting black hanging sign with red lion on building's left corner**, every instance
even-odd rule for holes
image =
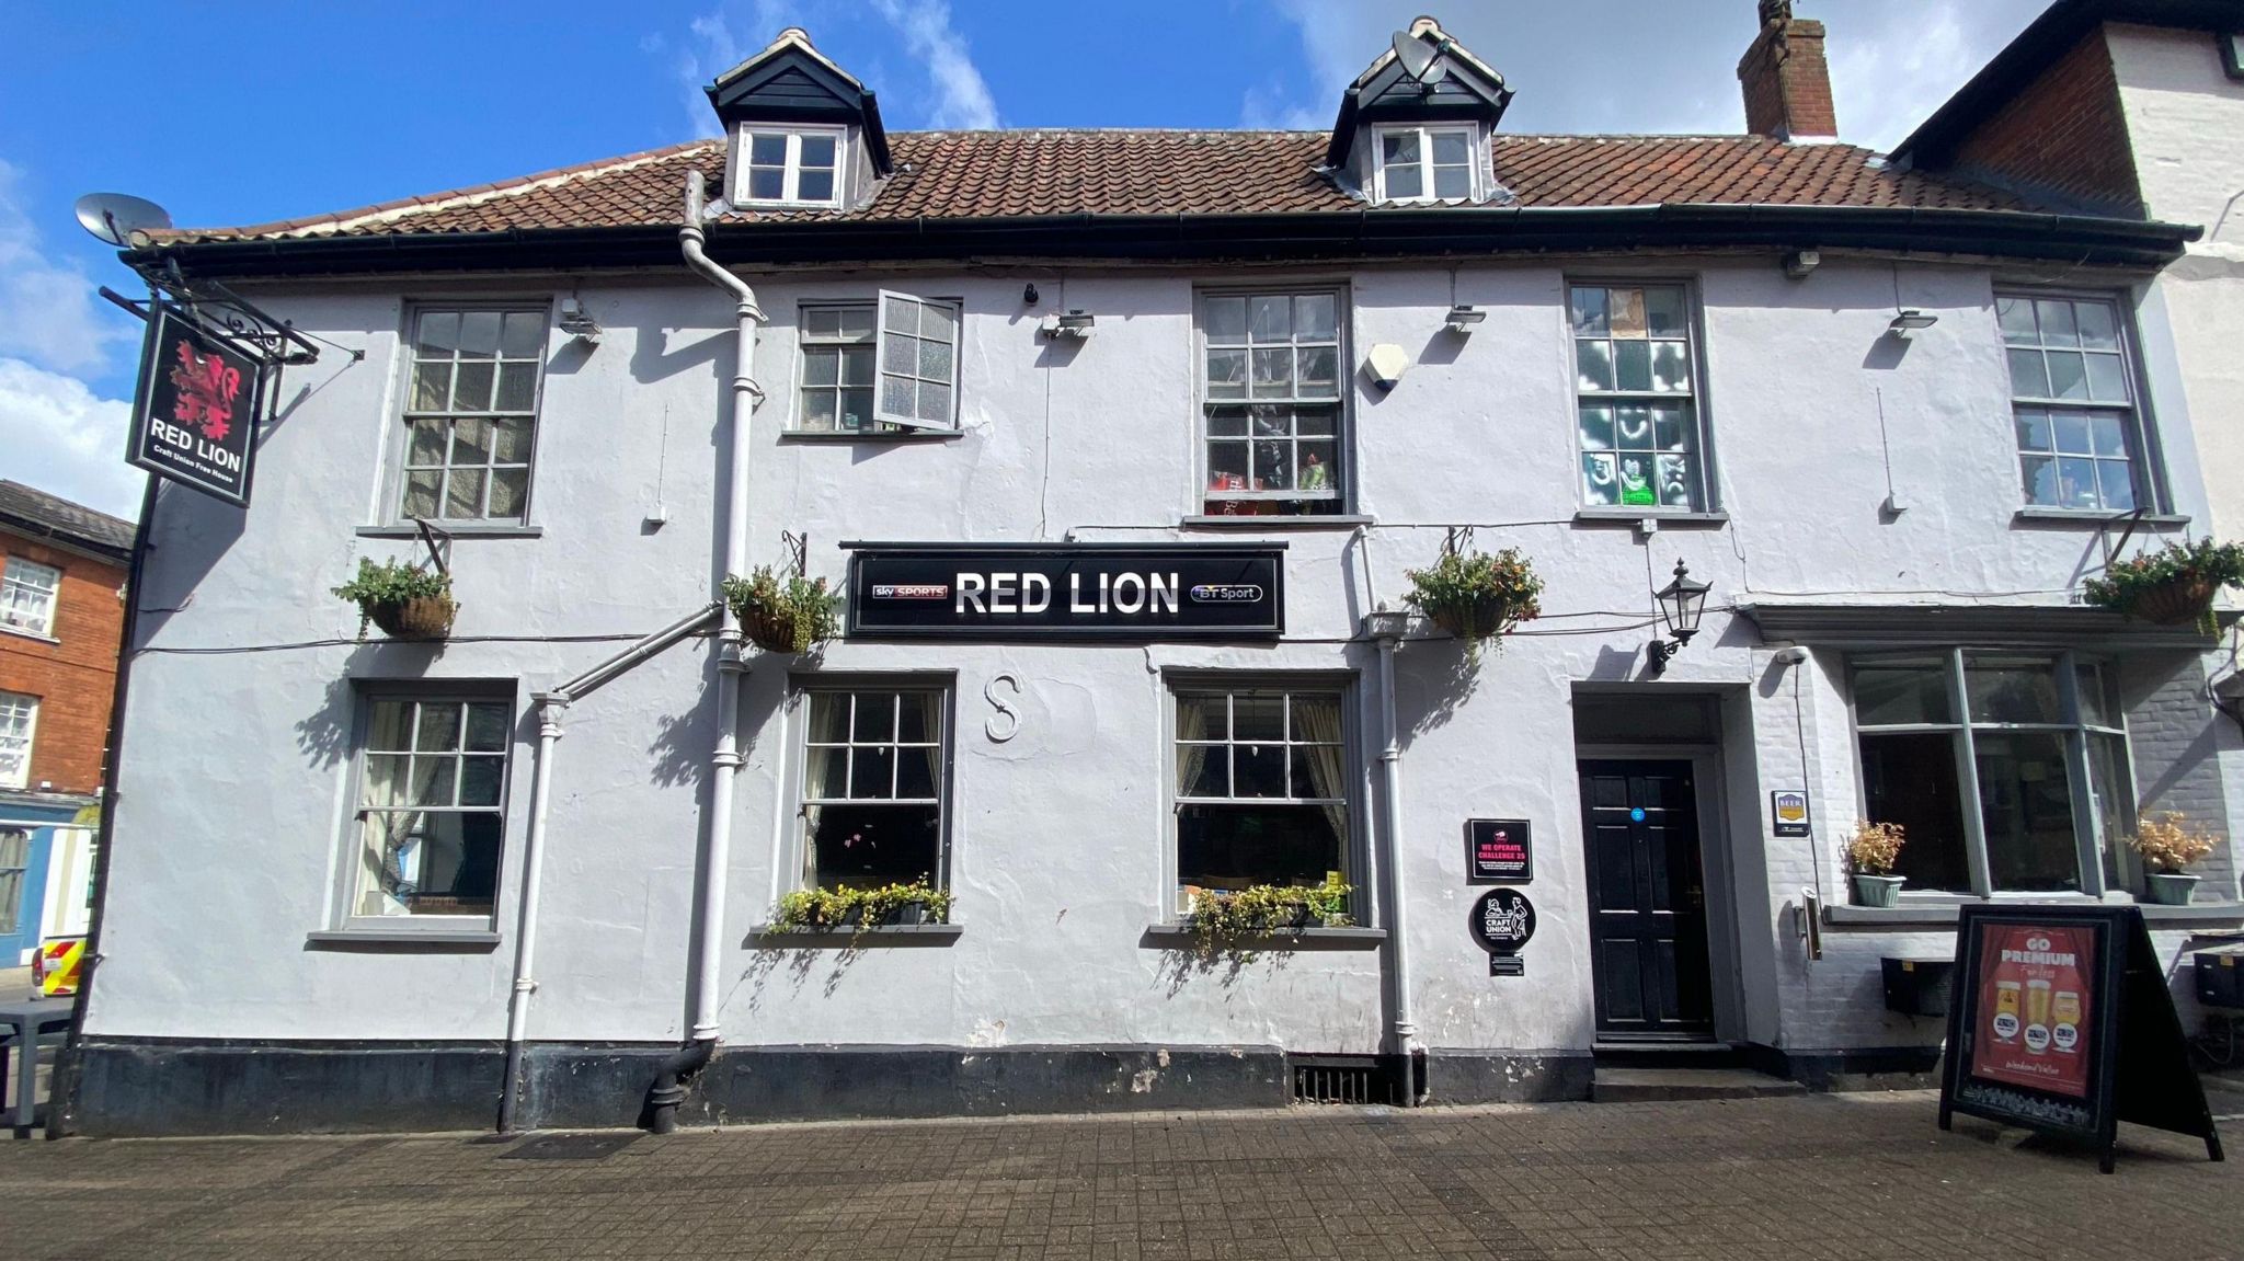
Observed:
[[[126,460],[249,507],[263,384],[258,361],[240,346],[211,337],[177,307],[157,305]]]

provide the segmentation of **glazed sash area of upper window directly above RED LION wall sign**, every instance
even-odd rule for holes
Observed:
[[[1342,512],[1340,292],[1203,294],[1201,343],[1205,509]]]

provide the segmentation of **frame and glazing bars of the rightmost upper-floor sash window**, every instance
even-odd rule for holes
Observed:
[[[2011,337],[2002,328],[2002,307],[2004,303],[2020,303],[2020,301],[2067,303],[2076,312],[2073,316],[2076,328],[2078,328],[2078,307],[2082,305],[2107,307],[2112,312],[2112,330],[2118,357],[2118,384],[2125,390],[2125,397],[2114,402],[2114,399],[2062,399],[2062,397],[2049,397],[2047,393],[2044,395],[2020,393],[2017,372],[2013,370],[2011,363],[2013,355],[2035,355],[2042,363],[2042,375],[2047,384],[2049,352],[2051,350],[2073,352],[2073,348],[2067,348],[2062,343],[2051,346],[2047,341],[2047,334],[2040,332],[2035,334],[2033,343],[2013,346]],[[2035,307],[2035,325],[2040,325],[2040,307]],[[2163,478],[2159,476],[2156,449],[2152,444],[2150,404],[2145,399],[2141,355],[2136,350],[2134,319],[2127,303],[2121,301],[2118,294],[2109,292],[2100,294],[2100,292],[2078,292],[2078,289],[2026,289],[2026,287],[1995,289],[1995,339],[2002,343],[2002,366],[2004,366],[2002,370],[2004,370],[2004,381],[2011,390],[2011,449],[2017,455],[2017,500],[2033,512],[2080,512],[2087,516],[2114,516],[2136,509],[2159,512],[2161,505],[2165,503],[2163,500],[2165,485]],[[2082,355],[2082,370],[2087,366],[2085,361],[2087,355],[2114,355],[2112,350],[2089,350],[2089,348],[2082,348],[2078,352]],[[2089,381],[2087,375],[2082,375],[2085,388],[2087,381]],[[2020,424],[2022,411],[2038,411],[2049,417],[2047,424],[2051,429],[2051,444],[2047,449],[2029,451],[2024,447],[2024,433]],[[2058,442],[2058,417],[2087,415],[2087,413],[2121,413],[2121,444],[2123,444],[2121,460],[2127,462],[2127,487],[2130,494],[2134,496],[2134,505],[2130,507],[2112,507],[2105,503],[2100,464],[2109,464],[2114,460],[2109,455],[2094,453],[2094,431],[2089,451],[2062,451]],[[2031,496],[2031,487],[2026,482],[2026,460],[2033,458],[2047,458],[2051,462],[2051,476],[2058,480],[2060,487],[2058,503],[2042,503]],[[2062,503],[2064,500],[2062,471],[2067,458],[2071,458],[2073,462],[2087,460],[2091,467],[2098,467],[2098,485],[2094,503],[2089,505]]]

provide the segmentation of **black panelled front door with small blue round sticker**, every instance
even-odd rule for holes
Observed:
[[[1699,797],[1685,761],[1584,761],[1600,1039],[1714,1032]]]

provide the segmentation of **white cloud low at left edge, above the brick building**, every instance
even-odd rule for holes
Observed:
[[[0,357],[0,476],[130,521],[146,476],[126,464],[130,413],[76,377]]]

